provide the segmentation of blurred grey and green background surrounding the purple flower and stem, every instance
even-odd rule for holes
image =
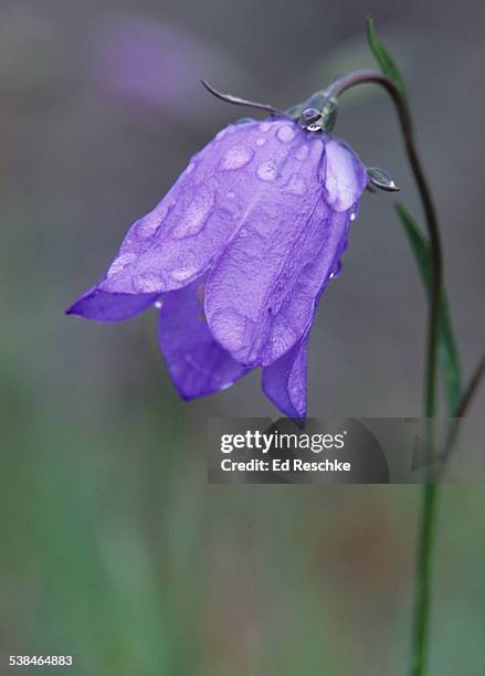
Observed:
[[[478,0],[0,1],[0,673],[9,654],[73,654],[83,676],[405,674],[420,488],[208,486],[207,418],[277,415],[257,373],[182,403],[155,311],[63,316],[239,116],[200,77],[289,106],[370,65],[367,13],[409,84],[470,372],[485,337]],[[420,214],[389,102],[366,88],[341,108],[337,134]],[[310,414],[419,415],[424,321],[391,199],[367,196],[313,332]],[[442,492],[432,676],[485,674],[483,498]]]

